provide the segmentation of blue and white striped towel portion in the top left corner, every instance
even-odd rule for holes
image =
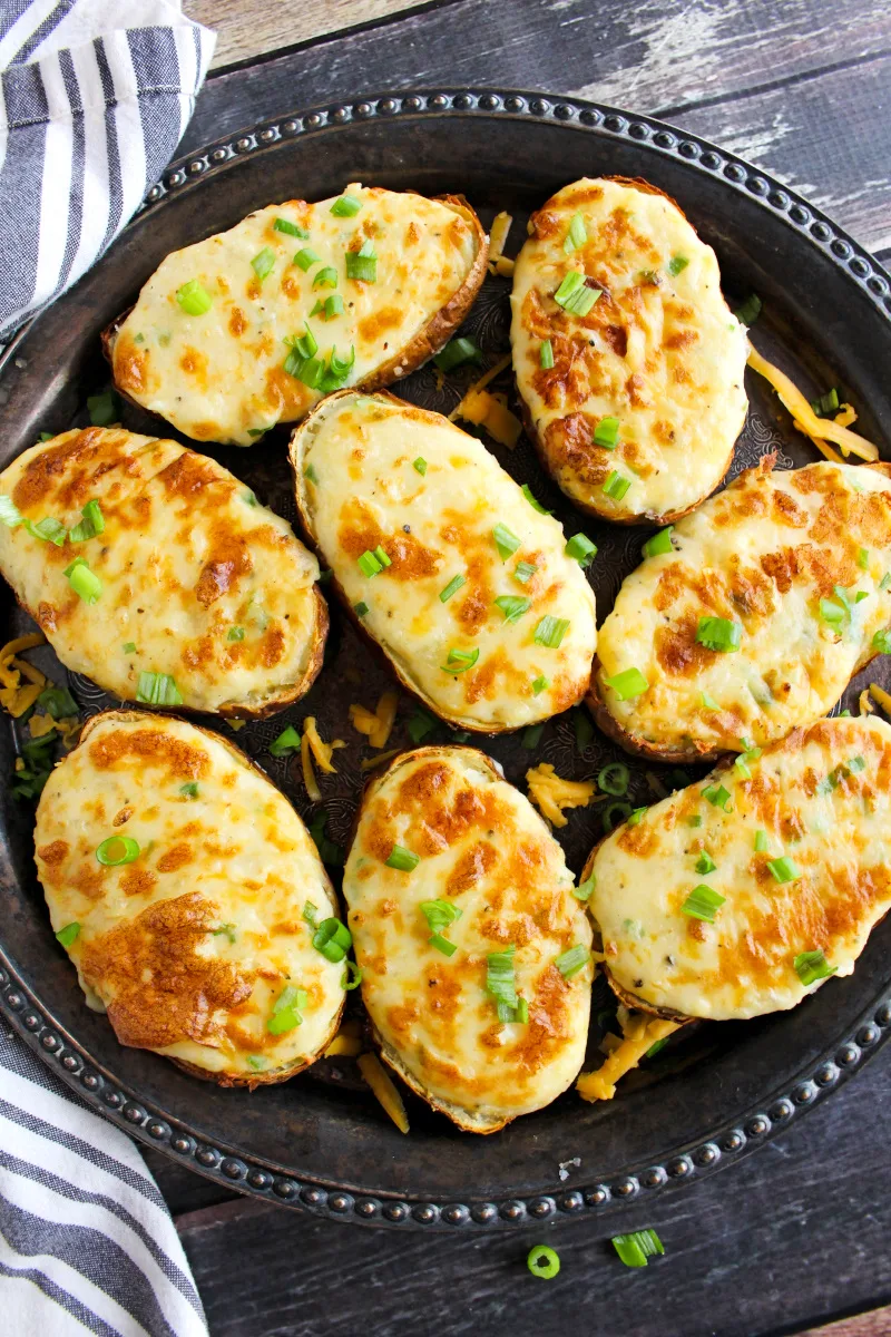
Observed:
[[[0,0],[0,342],[139,207],[214,41],[179,0]]]

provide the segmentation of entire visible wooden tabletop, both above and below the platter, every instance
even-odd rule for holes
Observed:
[[[887,0],[186,0],[219,32],[183,151],[363,94],[489,86],[663,116],[780,176],[891,259]],[[354,24],[350,29],[345,25]],[[335,31],[341,29],[341,31]],[[640,1205],[665,1257],[624,1269],[596,1219],[484,1239],[314,1221],[158,1154],[215,1337],[561,1332],[891,1334],[891,1050],[787,1136]],[[525,1269],[556,1245],[560,1277]],[[854,1316],[854,1317],[848,1317]],[[832,1326],[823,1328],[822,1325]]]

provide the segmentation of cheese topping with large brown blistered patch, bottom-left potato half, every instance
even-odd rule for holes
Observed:
[[[110,836],[138,858],[103,866]],[[80,924],[68,955],[122,1044],[263,1080],[331,1039],[343,967],[302,917],[306,901],[338,915],[331,884],[291,805],[231,743],[160,715],[96,717],[47,782],[35,846],[53,931]],[[307,1001],[277,1036],[287,985]]]

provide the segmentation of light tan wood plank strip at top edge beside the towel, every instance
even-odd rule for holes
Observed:
[[[254,60],[269,51],[310,41],[338,28],[374,23],[413,7],[414,0],[186,0],[184,13],[216,32],[211,70]]]

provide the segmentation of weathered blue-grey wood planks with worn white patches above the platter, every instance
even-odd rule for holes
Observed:
[[[878,247],[891,241],[890,53],[891,7],[875,0],[847,0],[844,21],[828,0],[645,0],[621,11],[592,0],[456,0],[212,76],[184,148],[385,87],[574,91],[671,114],[792,182]]]

